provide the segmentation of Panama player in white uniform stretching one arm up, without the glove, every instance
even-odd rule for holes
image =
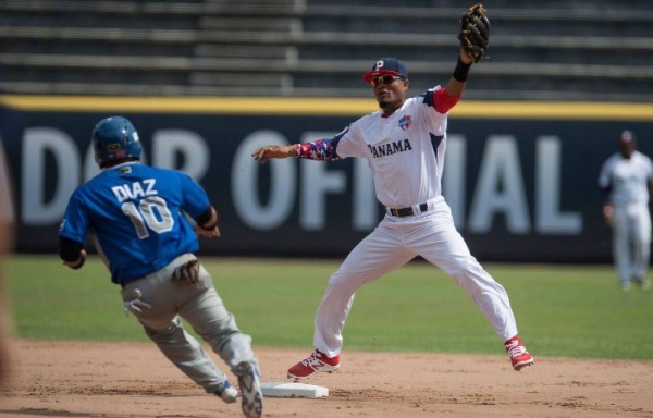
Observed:
[[[382,58],[364,74],[381,110],[360,118],[333,138],[270,145],[252,153],[261,163],[286,157],[365,158],[373,174],[377,198],[386,208],[378,228],[329,280],[315,320],[316,349],[291,367],[288,378],[298,380],[336,370],[342,331],[356,291],[416,256],[444,270],[467,292],[505,343],[515,370],[533,364],[517,334],[506,291],[471,256],[441,193],[447,112],[460,98],[470,66],[471,59],[460,49],[445,87],[406,99],[406,66],[396,58]]]

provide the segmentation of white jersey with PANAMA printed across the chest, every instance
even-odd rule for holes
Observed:
[[[419,205],[442,194],[447,114],[435,111],[433,91],[407,99],[385,118],[383,111],[354,122],[340,138],[338,157],[366,158],[377,198],[389,208]]]

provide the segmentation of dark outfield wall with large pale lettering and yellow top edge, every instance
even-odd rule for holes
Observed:
[[[222,237],[211,255],[342,257],[383,217],[364,160],[286,159],[268,144],[336,134],[369,100],[0,97],[0,179],[20,253],[56,253],[71,193],[98,173],[97,121],[134,123],[146,162],[182,170],[208,192]],[[653,156],[646,104],[461,102],[451,114],[443,190],[460,233],[488,261],[609,262],[596,179],[621,130]],[[7,211],[5,211],[7,212]]]

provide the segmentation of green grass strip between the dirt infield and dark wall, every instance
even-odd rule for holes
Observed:
[[[259,346],[312,346],[312,322],[340,260],[201,258],[243,331]],[[53,256],[8,262],[14,334],[28,340],[147,341],[122,312],[97,257],[78,271]],[[653,291],[618,290],[611,266],[488,265],[508,291],[535,355],[653,359]],[[442,271],[411,262],[356,295],[345,349],[501,353],[471,299]]]

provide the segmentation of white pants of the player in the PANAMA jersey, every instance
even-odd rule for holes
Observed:
[[[429,212],[401,220],[386,216],[352,250],[329,280],[318,307],[315,347],[329,357],[338,355],[356,291],[416,256],[422,256],[452,276],[490,320],[502,342],[517,334],[506,291],[471,256],[454,225],[448,205],[440,197],[435,209]]]

